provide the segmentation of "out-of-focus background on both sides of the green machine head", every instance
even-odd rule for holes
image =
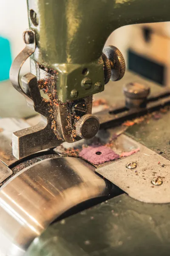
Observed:
[[[23,31],[28,28],[26,0],[0,0],[0,116],[25,117],[35,113],[9,81],[12,60],[24,48]],[[124,55],[127,70],[160,87],[170,84],[170,23],[130,25],[108,38]],[[29,72],[29,61],[21,74]],[[125,78],[121,81],[125,82]]]

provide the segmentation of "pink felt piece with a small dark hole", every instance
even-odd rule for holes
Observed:
[[[95,165],[120,158],[120,156],[116,154],[111,148],[99,145],[92,145],[84,148],[79,153],[79,156]]]

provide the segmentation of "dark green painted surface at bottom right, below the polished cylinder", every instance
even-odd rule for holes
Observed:
[[[51,225],[28,255],[169,255],[169,210],[120,195]]]

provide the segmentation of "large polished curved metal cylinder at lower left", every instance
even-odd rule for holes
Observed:
[[[94,170],[80,158],[48,158],[9,179],[0,189],[0,255],[23,256],[59,215],[104,194]]]

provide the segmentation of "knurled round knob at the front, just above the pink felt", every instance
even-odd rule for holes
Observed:
[[[91,114],[82,116],[76,124],[76,134],[82,139],[91,139],[99,131],[99,119]]]

